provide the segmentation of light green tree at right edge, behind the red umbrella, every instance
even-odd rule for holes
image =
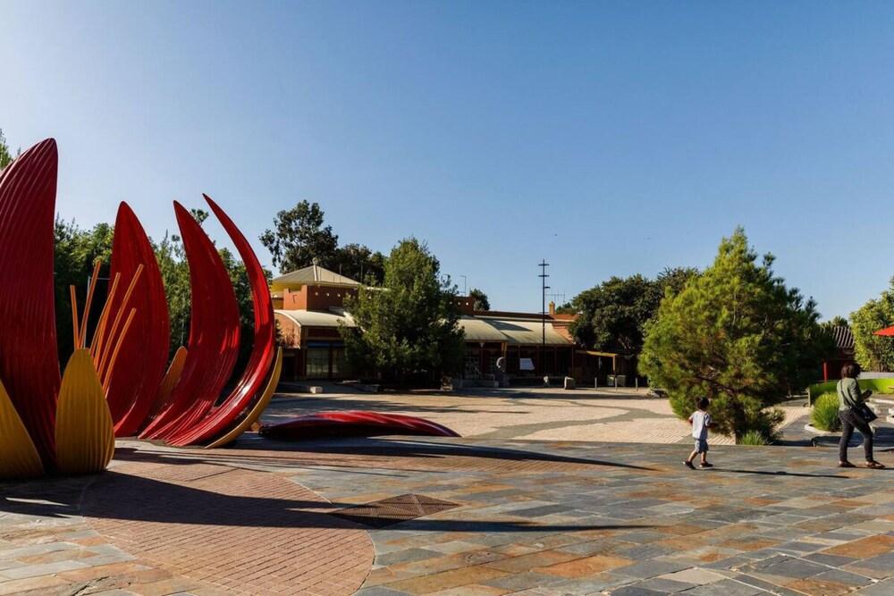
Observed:
[[[866,370],[894,370],[894,338],[873,335],[894,325],[894,278],[879,298],[869,300],[850,314],[850,323],[856,361]]]

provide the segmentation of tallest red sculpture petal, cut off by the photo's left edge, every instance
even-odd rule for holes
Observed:
[[[53,281],[58,155],[41,141],[0,177],[0,379],[44,466],[55,461],[59,393]]]

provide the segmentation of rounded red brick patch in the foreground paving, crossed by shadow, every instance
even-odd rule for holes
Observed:
[[[350,594],[373,551],[358,525],[277,474],[135,462],[93,483],[89,525],[154,566],[241,594]]]

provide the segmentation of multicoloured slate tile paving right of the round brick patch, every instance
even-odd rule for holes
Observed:
[[[690,471],[681,446],[455,442],[290,446],[328,499],[462,505],[371,530],[358,594],[894,594],[894,471],[839,470],[831,449],[721,446]]]

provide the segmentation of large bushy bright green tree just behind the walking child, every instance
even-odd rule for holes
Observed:
[[[767,408],[803,390],[834,350],[814,300],[787,288],[772,264],[772,255],[757,262],[741,228],[723,239],[713,264],[662,301],[639,360],[678,416],[707,396],[718,430],[737,441],[771,436],[781,412]]]

